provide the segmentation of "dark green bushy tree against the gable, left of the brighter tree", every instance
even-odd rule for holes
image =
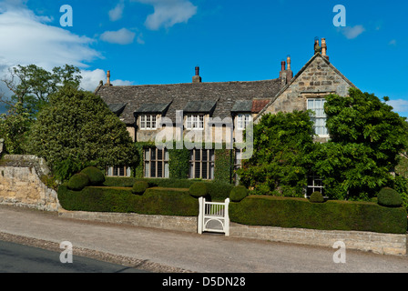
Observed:
[[[237,171],[240,183],[256,194],[303,196],[304,156],[313,149],[309,112],[263,115],[253,128],[253,155]]]

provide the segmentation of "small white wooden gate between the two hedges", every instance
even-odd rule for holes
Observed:
[[[207,202],[204,197],[199,197],[199,234],[209,231],[230,236],[229,204],[230,198],[225,202]]]

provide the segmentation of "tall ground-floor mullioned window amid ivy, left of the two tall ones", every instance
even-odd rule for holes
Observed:
[[[168,150],[145,148],[145,177],[168,178]]]

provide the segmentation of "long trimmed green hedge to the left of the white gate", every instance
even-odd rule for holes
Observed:
[[[143,196],[131,187],[87,186],[82,191],[58,187],[61,206],[70,211],[138,213],[161,216],[198,216],[199,200],[189,189],[148,188]]]

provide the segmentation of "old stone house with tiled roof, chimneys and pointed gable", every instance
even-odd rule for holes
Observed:
[[[190,135],[191,141],[198,142],[203,140],[199,135],[209,133],[205,135],[206,141],[209,137],[212,143],[233,146],[242,142],[243,130],[251,120],[257,123],[261,115],[306,109],[315,112],[317,140],[327,140],[324,97],[331,93],[347,95],[350,87],[355,85],[331,65],[322,38],[321,44],[315,41],[314,54],[296,75],[291,71],[290,56],[280,63],[279,77],[250,82],[206,83],[196,67],[191,83],[116,86],[110,84],[108,71],[107,83],[104,85],[101,81],[95,93],[127,125],[135,143],[158,141],[166,130],[167,137],[177,139]],[[188,175],[181,177],[217,180],[217,172],[221,171],[217,153],[207,147],[189,148],[189,160],[184,161]],[[143,169],[135,176],[172,177],[169,173],[171,157],[166,148],[145,144],[141,156]],[[224,173],[224,181],[232,182],[233,168],[240,166],[241,157],[241,150],[230,148],[232,170]],[[126,167],[111,167],[107,174],[132,175]]]

